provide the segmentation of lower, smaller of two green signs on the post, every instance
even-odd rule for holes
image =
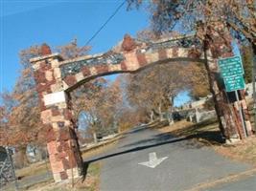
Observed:
[[[223,77],[223,79],[226,92],[243,90],[245,88],[243,75],[227,76]]]

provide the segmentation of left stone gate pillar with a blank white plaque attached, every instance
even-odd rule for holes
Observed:
[[[58,68],[60,60],[58,53],[31,59],[55,181],[79,177],[82,167],[72,108]]]

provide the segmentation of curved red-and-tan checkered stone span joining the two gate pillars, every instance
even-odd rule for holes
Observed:
[[[60,62],[59,68],[64,90],[70,91],[79,84],[97,76],[135,73],[151,65],[174,61],[204,62],[204,59],[195,57],[195,49],[190,48],[169,48],[154,51],[143,49],[129,53],[79,57],[74,60]]]

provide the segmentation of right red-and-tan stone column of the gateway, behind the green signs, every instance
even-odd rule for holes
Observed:
[[[218,117],[221,121],[221,132],[223,136],[231,141],[237,141],[238,139],[246,138],[244,133],[243,123],[239,113],[233,104],[229,103],[228,96],[224,91],[223,80],[221,79],[221,74],[218,67],[218,59],[224,57],[230,57],[233,55],[232,52],[232,37],[230,32],[224,23],[220,21],[212,21],[207,26],[205,39],[205,49],[207,51],[208,63],[208,74],[211,83],[211,92],[213,94],[216,111]],[[246,103],[244,103],[244,115],[246,113]],[[245,118],[246,125],[248,128],[248,135],[251,133],[250,122]]]

